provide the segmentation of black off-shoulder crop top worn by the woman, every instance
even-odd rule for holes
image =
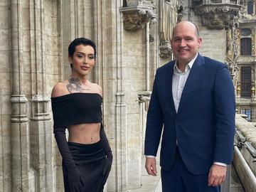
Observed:
[[[53,127],[102,122],[102,97],[97,93],[74,92],[52,97]]]

